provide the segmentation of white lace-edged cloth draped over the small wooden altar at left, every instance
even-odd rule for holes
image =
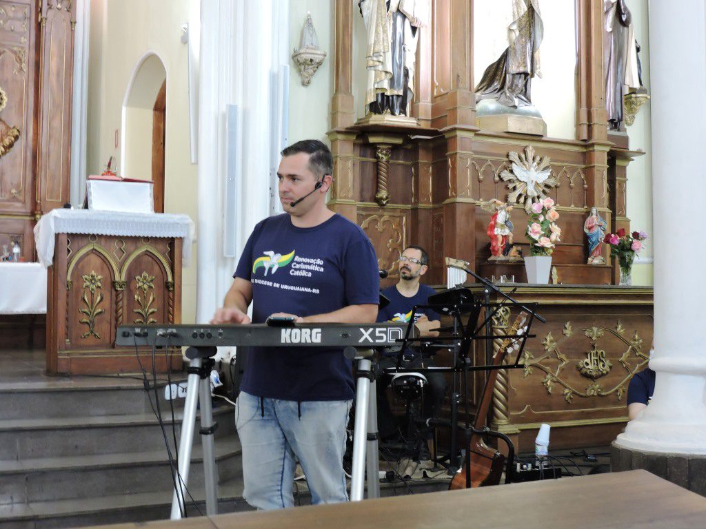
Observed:
[[[95,209],[52,209],[35,226],[35,245],[40,262],[45,267],[54,260],[56,233],[94,233],[126,237],[181,237],[181,260],[185,267],[191,262],[193,221],[188,215],[172,213],[124,213]]]

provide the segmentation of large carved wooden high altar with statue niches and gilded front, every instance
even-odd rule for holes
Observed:
[[[542,421],[555,427],[553,446],[614,439],[626,420],[624,393],[630,376],[645,364],[652,339],[651,288],[614,286],[618,265],[608,248],[603,251],[605,265],[587,265],[583,229],[590,209],[597,209],[608,231],[629,231],[627,166],[644,153],[630,150],[624,131],[609,133],[602,4],[575,0],[575,9],[575,136],[547,138],[477,125],[472,0],[429,1],[422,17],[429,24],[420,31],[415,61],[414,120],[405,126],[404,120],[393,123],[384,116],[361,119],[353,68],[364,63],[355,60],[364,51],[354,49],[352,30],[360,13],[348,0],[335,1],[329,204],[359,224],[373,242],[380,268],[389,272],[383,286],[399,279],[397,257],[409,244],[428,251],[430,268],[424,279],[429,284],[446,283],[444,257],[465,260],[487,278],[513,274],[516,281],[525,280],[522,265],[489,262],[486,229],[491,214],[481,205],[508,200],[508,183],[501,174],[512,169],[511,153],[549,159],[557,182],[549,196],[561,214],[562,230],[552,266],[561,285],[519,286],[517,297],[542,303],[549,321],[535,328],[538,338],[528,344],[526,370],[510,372],[498,382],[504,396],[494,403],[496,426],[519,440],[521,449],[531,448],[527,440]],[[529,255],[522,236],[525,210],[515,207],[512,217],[515,242]],[[502,326],[496,322],[497,329]],[[582,373],[577,365],[586,358],[608,372],[586,367]],[[477,391],[472,405],[476,398]]]

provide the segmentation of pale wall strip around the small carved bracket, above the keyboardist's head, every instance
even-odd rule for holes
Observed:
[[[294,61],[289,61],[290,144],[306,138],[326,141],[333,95],[333,11],[330,0],[289,0],[289,53],[299,48],[301,27],[307,12],[311,13],[316,28],[318,47],[326,52],[326,58],[309,86],[301,85],[297,66]]]

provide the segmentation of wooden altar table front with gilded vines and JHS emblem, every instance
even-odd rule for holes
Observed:
[[[604,446],[628,421],[630,378],[647,367],[652,344],[652,288],[597,285],[503,285],[520,303],[539,303],[520,369],[501,370],[493,392],[493,430],[515,449],[532,450],[539,425],[551,425],[551,446]],[[470,286],[475,295],[483,289]],[[491,296],[491,303],[502,296]],[[493,319],[505,334],[510,310]],[[500,341],[498,340],[498,343]],[[479,344],[483,348],[483,344]],[[493,343],[496,346],[496,343]],[[485,351],[477,351],[484,355]],[[482,387],[484,375],[477,375]]]

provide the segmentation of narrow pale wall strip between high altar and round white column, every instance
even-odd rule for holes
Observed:
[[[642,63],[642,84],[650,94],[650,35],[648,30],[647,0],[628,0],[628,8],[633,13],[635,39],[640,43]],[[652,237],[652,126],[650,123],[650,102],[646,102],[635,116],[635,123],[628,126],[630,149],[642,149],[644,156],[635,158],[628,165],[628,217],[633,229],[647,231]],[[652,240],[647,241],[633,265],[633,284],[652,285]]]

